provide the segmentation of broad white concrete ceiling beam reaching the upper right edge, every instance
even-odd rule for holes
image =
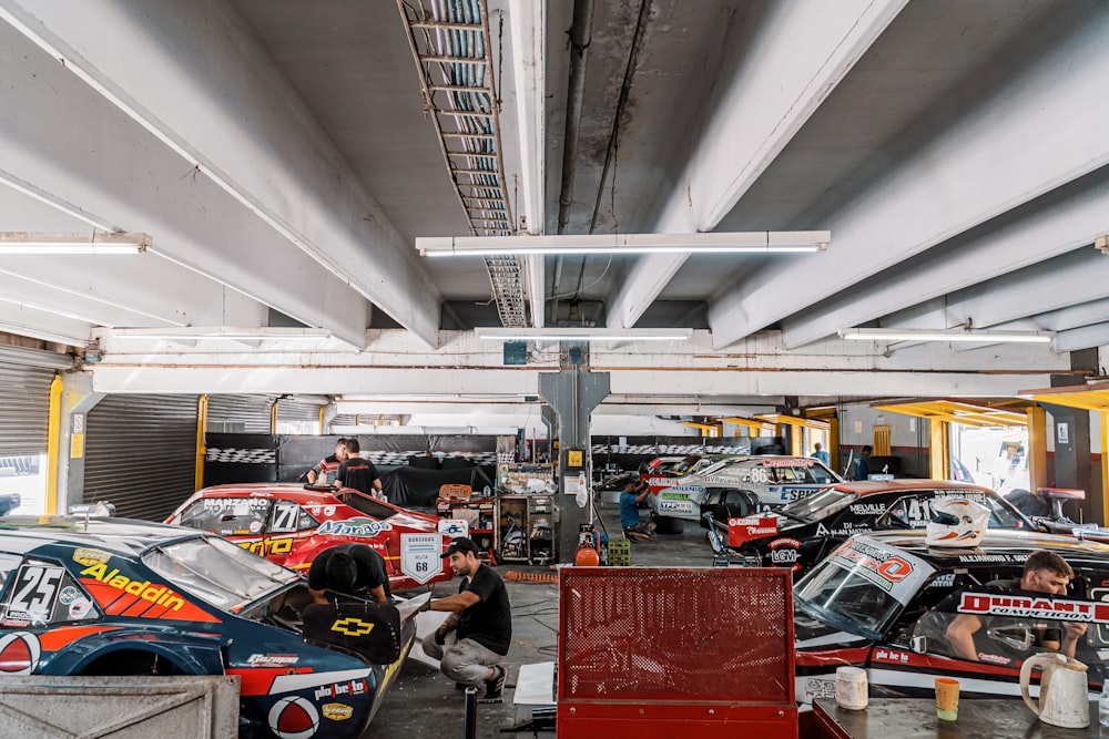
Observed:
[[[710,306],[726,347],[1109,163],[1109,6],[823,224],[821,258],[775,263]],[[1076,115],[1075,111],[1082,111]]]

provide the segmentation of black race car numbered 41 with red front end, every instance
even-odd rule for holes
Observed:
[[[734,509],[722,504],[703,504],[701,513],[711,514],[705,524],[716,525],[731,548],[766,566],[788,567],[796,577],[856,534],[924,528],[933,504],[940,499],[984,504],[990,512],[990,528],[1036,531],[1031,521],[990,489],[943,480],[845,482],[769,514],[735,516]]]

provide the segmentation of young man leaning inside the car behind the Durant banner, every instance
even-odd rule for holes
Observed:
[[[1075,576],[1075,571],[1067,561],[1055,552],[1036,550],[1028,555],[1020,579],[1001,579],[987,583],[989,587],[1000,587],[1007,591],[1030,591],[1047,595],[1066,595],[1067,585]],[[1048,626],[1038,622],[1040,630],[1037,647],[1048,651],[1058,651],[1074,658],[1078,640],[1086,634],[1086,624],[1061,622],[1062,628]],[[947,626],[946,636],[955,655],[973,661],[978,661],[978,650],[975,647],[974,635],[983,627],[983,619],[973,614],[958,614]],[[1061,638],[1061,643],[1060,643]]]

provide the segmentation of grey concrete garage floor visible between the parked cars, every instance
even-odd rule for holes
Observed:
[[[619,513],[614,503],[602,503],[601,516],[608,531],[617,533]],[[642,512],[647,515],[647,512]],[[705,541],[704,531],[696,524],[686,522],[684,532],[673,536],[659,536],[653,542],[633,542],[631,561],[633,565],[671,566],[709,565],[712,550]],[[532,732],[530,729],[513,731],[513,727],[529,718],[512,702],[520,665],[554,661],[557,647],[558,597],[553,583],[510,579],[509,573],[528,575],[550,575],[548,567],[501,565],[497,572],[505,577],[508,595],[512,603],[512,647],[505,665],[508,667],[508,682],[503,704],[478,705],[478,739],[494,737],[553,737],[553,731]],[[439,583],[435,587],[436,597],[451,595],[458,589],[458,581]],[[441,614],[424,614],[441,622]],[[423,617],[421,616],[421,617]],[[431,626],[430,628],[434,628]],[[424,633],[423,624],[420,633]],[[413,647],[420,651],[419,644]],[[385,698],[380,710],[370,723],[365,737],[393,739],[406,737],[446,738],[465,737],[464,694],[456,690],[454,682],[442,677],[431,665],[409,657],[397,682]]]

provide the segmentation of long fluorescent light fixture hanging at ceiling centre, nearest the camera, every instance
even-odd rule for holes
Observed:
[[[416,239],[416,248],[426,257],[484,257],[513,254],[796,254],[823,252],[831,240],[830,230],[590,236],[427,236]]]

